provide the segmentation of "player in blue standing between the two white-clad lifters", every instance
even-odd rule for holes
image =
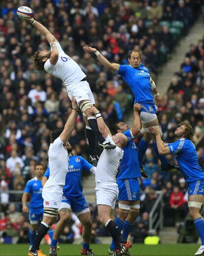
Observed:
[[[91,214],[89,205],[87,204],[85,197],[82,193],[83,188],[81,185],[82,170],[95,174],[96,167],[87,162],[83,157],[78,155],[72,155],[72,147],[68,143],[66,146],[68,150],[69,162],[68,173],[66,175],[65,186],[63,188],[63,199],[59,207],[60,220],[58,221],[52,243],[50,248],[50,256],[56,256],[56,247],[60,235],[65,229],[67,221],[71,218],[71,209],[78,217],[79,221],[83,225],[82,238],[83,244],[81,249],[81,255],[94,255],[89,247],[91,240]],[[44,174],[42,184],[44,185],[49,178],[50,170],[49,166]]]

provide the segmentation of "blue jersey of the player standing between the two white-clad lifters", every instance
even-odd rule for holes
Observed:
[[[84,169],[85,171],[90,172],[92,167],[94,166],[81,156],[69,156],[68,173],[65,179],[65,186],[63,187],[63,194],[70,197],[80,196],[83,191],[81,185],[82,170]],[[49,175],[50,169],[48,166],[44,176],[49,178]]]

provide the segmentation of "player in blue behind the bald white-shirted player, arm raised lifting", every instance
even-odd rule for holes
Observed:
[[[116,179],[116,183],[118,184],[119,189],[119,210],[118,216],[115,219],[115,222],[120,230],[123,230],[123,238],[126,240],[139,214],[140,207],[140,187],[138,178],[141,177],[141,173],[138,162],[137,149],[133,141],[141,128],[138,114],[140,109],[141,105],[136,103],[134,106],[134,122],[132,128],[129,128],[128,125],[122,121],[116,122],[112,127],[112,130],[115,134],[122,132],[128,138],[128,143],[123,148],[124,154]],[[114,249],[115,246],[114,242],[112,241],[110,249],[108,249],[108,254],[112,255]],[[130,252],[126,252],[125,255],[130,255]]]

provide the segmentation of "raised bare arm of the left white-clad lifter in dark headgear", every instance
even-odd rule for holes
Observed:
[[[65,143],[71,137],[71,133],[76,124],[76,117],[78,116],[79,108],[77,106],[75,98],[72,97],[72,111],[65,124],[63,132],[60,134],[60,139]]]

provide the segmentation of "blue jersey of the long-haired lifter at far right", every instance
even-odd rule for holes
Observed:
[[[168,144],[170,154],[174,154],[186,182],[204,179],[204,171],[198,162],[196,147],[188,139],[180,139]]]

